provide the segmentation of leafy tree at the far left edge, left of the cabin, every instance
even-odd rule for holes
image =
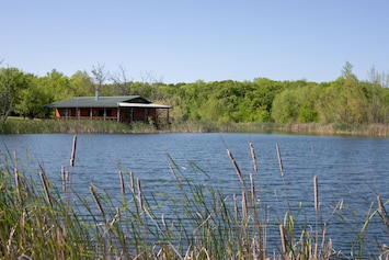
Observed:
[[[8,116],[16,110],[21,90],[27,87],[25,75],[16,68],[0,68],[0,116],[5,124]]]

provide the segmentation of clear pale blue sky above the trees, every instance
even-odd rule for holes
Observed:
[[[0,67],[165,83],[389,72],[387,0],[0,0]]]

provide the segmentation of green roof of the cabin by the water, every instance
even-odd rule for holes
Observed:
[[[145,103],[151,101],[141,95],[123,97],[79,97],[70,100],[62,100],[44,105],[44,108],[117,108],[119,103]]]

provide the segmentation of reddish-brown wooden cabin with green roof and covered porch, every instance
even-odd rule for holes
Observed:
[[[78,97],[44,105],[54,109],[56,120],[103,120],[122,123],[169,124],[169,105],[156,104],[141,95]]]

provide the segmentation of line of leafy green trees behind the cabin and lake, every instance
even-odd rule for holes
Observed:
[[[374,67],[368,76],[367,80],[358,80],[353,66],[345,63],[341,76],[329,82],[255,78],[168,84],[152,74],[145,75],[141,81],[128,80],[123,67],[108,72],[98,65],[90,72],[79,70],[71,77],[55,69],[38,77],[18,68],[0,67],[0,115],[3,123],[10,115],[47,117],[49,112],[44,104],[94,95],[99,90],[101,95],[139,94],[172,105],[173,123],[387,124],[389,76]]]

